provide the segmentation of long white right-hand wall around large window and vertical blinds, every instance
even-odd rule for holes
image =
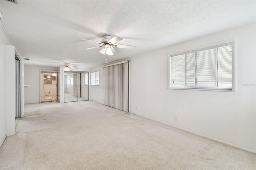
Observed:
[[[168,54],[236,38],[236,92],[168,89]],[[218,32],[130,59],[131,112],[256,152],[256,24]],[[104,103],[100,86],[90,100]],[[242,84],[254,86],[242,86]],[[136,109],[137,108],[137,109]],[[179,121],[175,121],[179,117]]]

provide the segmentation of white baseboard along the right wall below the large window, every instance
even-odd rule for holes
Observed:
[[[138,116],[140,116],[140,115],[138,115]],[[140,117],[144,117],[144,116],[140,116]],[[144,117],[144,118],[150,119],[150,118],[148,118],[148,117]],[[171,127],[175,127],[175,128],[180,129],[180,130],[184,130],[184,131],[186,131],[186,132],[190,132],[190,133],[192,133],[192,134],[196,134],[196,135],[198,135],[198,136],[202,136],[202,137],[204,137],[204,138],[208,138],[208,139],[210,139],[210,140],[214,140],[214,141],[216,141],[216,142],[219,142],[219,143],[223,143],[223,144],[232,146],[232,147],[234,147],[234,148],[238,148],[238,149],[245,150],[245,151],[247,151],[247,152],[251,152],[251,153],[253,153],[253,154],[256,154],[256,151],[254,151],[254,150],[246,149],[246,148],[243,148],[243,147],[241,147],[241,146],[237,146],[237,145],[235,145],[235,144],[231,144],[231,143],[228,143],[228,142],[224,142],[224,141],[222,141],[222,140],[218,140],[218,139],[215,139],[215,138],[211,138],[211,137],[209,137],[209,136],[205,136],[205,135],[203,135],[203,134],[200,134],[200,133],[197,133],[197,132],[193,132],[193,131],[191,131],[191,130],[187,130],[187,129],[184,129],[184,128],[176,127],[176,126],[174,126],[174,125],[170,125],[170,124],[167,124],[167,123],[163,123],[163,122],[160,122],[160,121],[157,121],[157,120],[154,120],[154,119],[150,119],[150,120],[156,121],[156,122],[159,122],[159,123],[162,123],[162,124],[164,124],[164,125],[171,126]]]

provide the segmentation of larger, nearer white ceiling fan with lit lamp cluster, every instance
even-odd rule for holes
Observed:
[[[95,42],[92,40],[86,40],[86,39],[82,39],[84,41],[90,41],[90,42]],[[114,49],[114,47],[118,47],[118,48],[127,48],[127,49],[132,49],[135,48],[135,46],[133,45],[120,45],[120,44],[116,44],[117,42],[123,40],[122,38],[118,37],[118,36],[114,36],[113,38],[111,38],[111,36],[109,35],[104,35],[104,39],[101,40],[101,42],[95,42],[95,43],[99,43],[100,45],[96,46],[96,47],[90,47],[90,48],[86,48],[86,49],[93,49],[93,48],[97,48],[97,47],[103,47],[99,52],[102,53],[103,55],[113,55],[116,50]]]

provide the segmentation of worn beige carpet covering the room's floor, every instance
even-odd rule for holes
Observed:
[[[239,169],[256,154],[92,101],[26,112],[0,149],[0,169]],[[156,113],[157,114],[157,113]]]

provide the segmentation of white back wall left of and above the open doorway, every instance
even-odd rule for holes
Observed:
[[[30,85],[30,87],[25,87],[25,104],[40,102],[40,70],[58,71],[58,67],[25,65],[24,84]]]

